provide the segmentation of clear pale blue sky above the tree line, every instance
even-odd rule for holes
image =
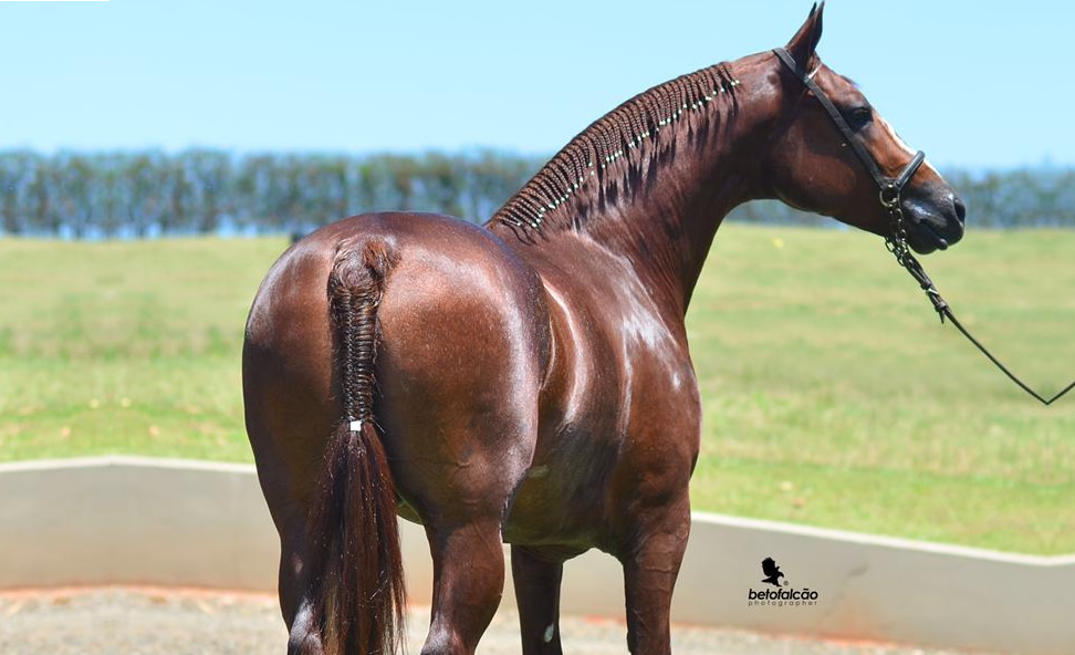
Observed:
[[[0,2],[0,148],[552,154],[810,2]],[[818,51],[941,166],[1075,166],[1075,3],[829,0]]]

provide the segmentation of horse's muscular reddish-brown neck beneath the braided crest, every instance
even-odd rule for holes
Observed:
[[[645,132],[648,139],[632,141],[630,148],[595,162],[602,181],[591,186],[584,174],[573,185],[585,194],[581,197],[562,181],[577,175],[571,159],[578,153],[553,166],[565,148],[547,165],[549,174],[543,169],[528,183],[490,227],[504,236],[515,232],[510,242],[523,248],[555,248],[559,239],[582,238],[585,247],[626,260],[660,311],[682,319],[723,217],[762,197],[759,155],[768,141],[764,114],[772,107],[759,100],[769,84],[761,62],[744,58],[726,64],[722,90],[707,95],[707,103],[689,111],[683,105],[665,116],[655,134]],[[589,176],[597,175],[595,163],[588,164]]]

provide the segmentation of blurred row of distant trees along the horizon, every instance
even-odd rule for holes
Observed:
[[[0,233],[146,238],[304,231],[379,209],[488,219],[542,165],[492,150],[368,156],[0,152]],[[1075,170],[947,171],[975,226],[1075,227]],[[732,220],[817,225],[779,202]]]

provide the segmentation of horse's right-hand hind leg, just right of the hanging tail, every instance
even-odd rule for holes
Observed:
[[[500,521],[427,527],[432,617],[421,655],[472,654],[504,589]]]

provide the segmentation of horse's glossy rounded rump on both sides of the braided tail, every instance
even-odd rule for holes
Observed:
[[[254,300],[243,387],[267,496],[302,505],[343,418],[327,280],[340,249],[370,247],[390,262],[377,308],[375,416],[400,496],[420,508],[449,492],[476,502],[502,495],[524,475],[538,429],[549,356],[541,281],[482,228],[374,214],[295,243]]]

